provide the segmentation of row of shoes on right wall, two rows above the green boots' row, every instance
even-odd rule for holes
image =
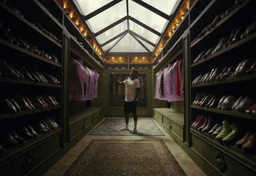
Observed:
[[[255,58],[245,59],[236,66],[228,66],[225,68],[212,68],[210,72],[198,75],[192,82],[192,85],[202,82],[212,82],[216,80],[225,80],[226,78],[240,77],[243,75],[251,75],[256,72]]]

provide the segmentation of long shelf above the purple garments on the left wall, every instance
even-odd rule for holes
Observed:
[[[82,47],[73,36],[70,36],[70,39],[70,51],[76,54],[79,58],[83,59],[84,62],[93,68],[97,68],[97,70],[103,70],[103,66],[99,63],[99,61],[92,57],[92,55],[90,55],[88,51],[85,50],[84,47]]]

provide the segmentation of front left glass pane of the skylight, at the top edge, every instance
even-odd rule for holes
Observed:
[[[89,13],[92,13],[93,11],[97,10],[98,8],[101,8],[102,6],[110,3],[113,0],[97,0],[92,1],[91,0],[73,0],[76,4],[80,13],[82,15],[88,15]]]

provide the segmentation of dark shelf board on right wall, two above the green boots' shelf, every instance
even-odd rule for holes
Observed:
[[[200,84],[190,85],[190,86],[191,86],[191,88],[193,88],[193,87],[205,87],[205,86],[210,86],[210,85],[228,84],[228,83],[243,82],[243,81],[255,80],[255,79],[256,79],[256,74],[253,74],[253,75],[241,76],[241,77],[238,77],[238,78],[229,78],[229,79],[226,79],[226,80],[220,80],[220,81],[215,81],[215,82],[202,82]]]

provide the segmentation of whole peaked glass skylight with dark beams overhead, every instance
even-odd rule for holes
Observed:
[[[108,52],[110,55],[111,52],[149,52],[152,54],[155,49],[152,45],[157,46],[163,35],[164,27],[167,27],[168,19],[175,10],[173,8],[177,8],[181,0],[72,1],[83,15],[82,18],[95,39],[100,45],[104,44],[102,45],[103,52],[105,54]],[[128,33],[122,38],[120,34],[126,30]],[[119,37],[113,40],[118,35]]]

